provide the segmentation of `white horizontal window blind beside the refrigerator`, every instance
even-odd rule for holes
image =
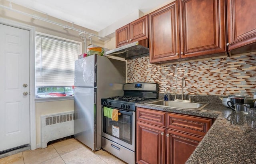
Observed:
[[[36,87],[74,85],[74,65],[79,44],[36,36]]]

